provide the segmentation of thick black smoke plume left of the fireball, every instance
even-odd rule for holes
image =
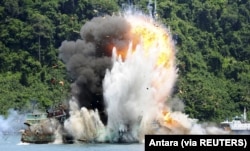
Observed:
[[[82,26],[81,39],[63,41],[59,58],[66,64],[73,83],[71,93],[80,107],[98,109],[107,121],[103,100],[102,80],[111,68],[113,47],[126,50],[130,41],[130,25],[120,16],[96,17]]]

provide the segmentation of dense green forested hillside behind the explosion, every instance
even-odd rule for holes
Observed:
[[[148,0],[1,0],[0,115],[48,108],[70,96],[72,79],[58,58],[64,40],[86,21]],[[174,95],[185,112],[219,121],[250,110],[250,1],[157,0],[157,18],[177,42]],[[250,111],[248,111],[250,115]]]

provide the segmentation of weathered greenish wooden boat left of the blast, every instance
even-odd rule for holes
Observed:
[[[21,131],[21,141],[34,144],[55,142],[58,131],[63,130],[62,124],[66,116],[62,106],[52,111],[27,114],[24,124],[28,128]],[[66,138],[66,135],[62,137],[63,142],[67,141]]]

